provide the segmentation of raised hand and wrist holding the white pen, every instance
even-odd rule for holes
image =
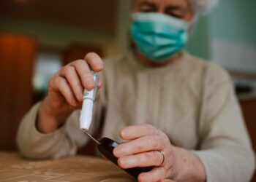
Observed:
[[[39,106],[37,129],[40,132],[53,132],[67,117],[82,106],[83,91],[94,88],[91,70],[103,70],[102,59],[89,53],[84,60],[75,60],[61,68],[49,81],[48,95]],[[99,88],[102,81],[98,82]]]

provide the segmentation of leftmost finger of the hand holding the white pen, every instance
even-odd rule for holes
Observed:
[[[61,76],[57,76],[55,80],[55,86],[59,92],[61,92],[61,95],[64,96],[65,100],[69,105],[71,106],[77,106],[78,102],[75,98],[74,93],[72,92],[71,87],[69,86],[68,82],[66,79],[64,79]]]

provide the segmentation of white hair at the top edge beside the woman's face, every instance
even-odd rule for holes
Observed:
[[[126,4],[131,6],[132,2],[135,0],[123,0]],[[207,15],[211,12],[214,7],[217,6],[219,0],[189,0],[192,4],[192,7],[195,9],[196,15]]]

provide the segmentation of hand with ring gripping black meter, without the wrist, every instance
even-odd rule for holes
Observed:
[[[176,178],[178,175],[176,148],[172,146],[164,132],[150,124],[143,124],[124,127],[119,135],[128,141],[116,146],[113,151],[118,157],[118,165],[121,168],[154,166],[153,170],[140,173],[138,181]]]

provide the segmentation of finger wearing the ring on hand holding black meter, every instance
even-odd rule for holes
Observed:
[[[148,151],[127,157],[118,158],[118,166],[123,169],[132,167],[150,167],[162,165],[162,154],[159,151]]]

